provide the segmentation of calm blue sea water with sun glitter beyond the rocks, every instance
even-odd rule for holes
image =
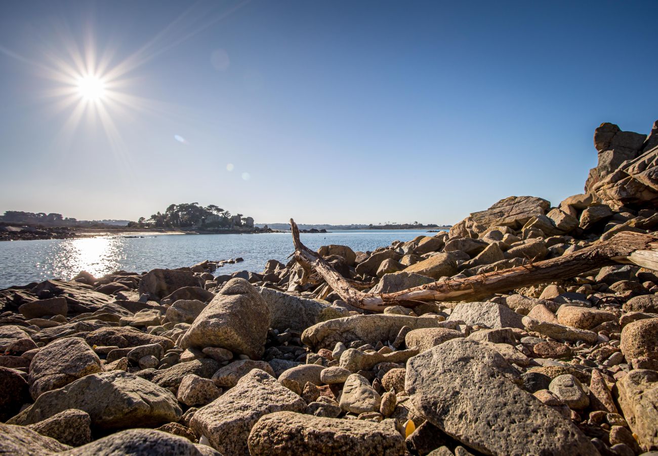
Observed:
[[[410,241],[426,230],[345,230],[302,233],[301,241],[316,250],[342,244],[353,250],[374,250],[393,241]],[[45,241],[0,242],[0,289],[45,279],[70,279],[85,270],[100,277],[117,270],[149,271],[181,268],[203,260],[243,262],[226,264],[215,274],[234,271],[261,272],[267,260],[286,263],[293,252],[290,233],[257,235],[145,235],[145,237],[94,237]]]

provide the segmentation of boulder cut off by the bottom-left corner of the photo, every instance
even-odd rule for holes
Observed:
[[[24,426],[0,423],[0,454],[45,456],[66,451],[70,446],[42,436]]]

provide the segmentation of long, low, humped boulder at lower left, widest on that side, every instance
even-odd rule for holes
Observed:
[[[116,430],[130,426],[159,426],[178,421],[178,401],[169,391],[122,370],[82,377],[40,395],[9,424],[34,424],[68,409],[85,411],[91,426]]]

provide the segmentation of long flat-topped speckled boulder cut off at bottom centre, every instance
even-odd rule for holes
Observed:
[[[249,434],[249,454],[403,456],[405,441],[392,422],[321,418],[277,412],[263,416]]]

